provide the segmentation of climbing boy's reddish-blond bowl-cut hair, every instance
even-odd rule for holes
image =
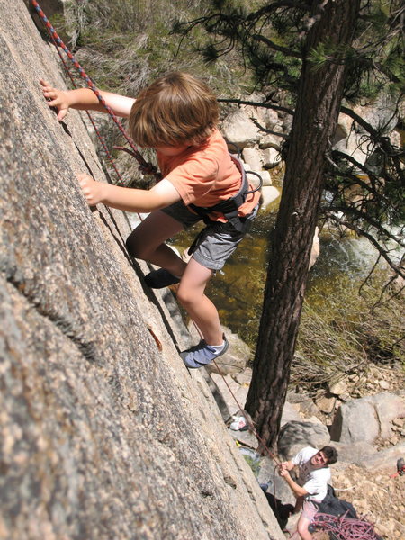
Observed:
[[[216,128],[218,116],[210,88],[176,71],[140,92],[130,111],[130,134],[141,147],[199,145]]]

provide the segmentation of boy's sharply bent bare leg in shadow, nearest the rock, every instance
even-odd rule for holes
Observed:
[[[164,242],[183,229],[179,221],[163,211],[153,211],[130,233],[126,242],[128,251],[133,257],[166,268],[173,275],[180,277],[184,273],[186,263]]]

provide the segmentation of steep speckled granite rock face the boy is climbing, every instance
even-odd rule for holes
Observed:
[[[23,0],[0,20],[0,538],[282,539],[163,296],[142,285],[54,50]]]

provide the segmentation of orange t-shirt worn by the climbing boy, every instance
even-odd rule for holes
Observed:
[[[210,207],[226,201],[240,189],[240,172],[219,130],[214,130],[201,146],[186,148],[177,156],[163,156],[157,151],[157,162],[163,177],[175,186],[185,205]],[[259,198],[259,191],[248,194],[238,209],[239,216],[251,213]],[[226,221],[220,212],[212,212],[210,218]]]

